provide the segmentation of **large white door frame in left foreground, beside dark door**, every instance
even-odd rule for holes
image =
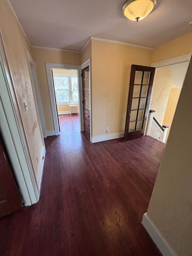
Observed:
[[[25,206],[39,201],[40,192],[30,155],[25,127],[19,109],[13,77],[0,29],[0,65],[3,83],[0,87],[0,127],[19,191]]]

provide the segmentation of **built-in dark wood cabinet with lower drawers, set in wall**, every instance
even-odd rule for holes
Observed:
[[[90,139],[89,66],[82,69],[84,133]]]

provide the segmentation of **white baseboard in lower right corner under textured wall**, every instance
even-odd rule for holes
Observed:
[[[164,256],[177,256],[153,222],[148,218],[147,212],[143,214],[142,224]]]

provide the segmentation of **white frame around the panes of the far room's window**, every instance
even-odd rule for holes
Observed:
[[[68,87],[69,87],[69,102],[57,102],[57,96],[56,96],[56,89],[55,89],[55,77],[67,77],[68,80]],[[56,98],[56,104],[57,105],[70,105],[70,104],[79,104],[78,102],[73,102],[73,90],[72,90],[72,83],[71,83],[71,77],[76,77],[76,74],[57,74],[53,73],[53,81],[54,81],[54,89],[55,89],[55,98]],[[77,79],[78,80],[78,79]],[[78,91],[78,90],[77,90]]]

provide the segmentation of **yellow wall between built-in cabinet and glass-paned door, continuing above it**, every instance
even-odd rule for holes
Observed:
[[[152,50],[92,40],[92,136],[125,131],[131,65],[150,66]]]

